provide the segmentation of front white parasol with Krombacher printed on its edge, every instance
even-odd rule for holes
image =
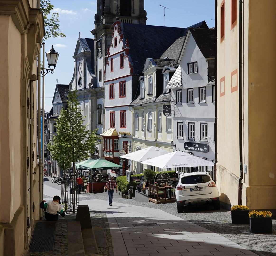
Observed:
[[[161,169],[193,166],[214,166],[213,162],[178,150],[160,157],[143,161],[142,164],[153,165]]]

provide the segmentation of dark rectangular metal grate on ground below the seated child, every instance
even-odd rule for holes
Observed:
[[[29,252],[52,252],[55,241],[55,222],[36,223]]]

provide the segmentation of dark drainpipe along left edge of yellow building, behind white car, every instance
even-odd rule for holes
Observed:
[[[207,62],[208,63],[208,62]],[[217,0],[215,0],[215,163],[214,179],[217,180]]]

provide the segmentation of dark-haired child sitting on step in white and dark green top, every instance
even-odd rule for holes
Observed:
[[[65,212],[60,206],[60,197],[54,196],[53,201],[49,203],[45,203],[45,200],[41,201],[40,208],[46,209],[45,219],[48,221],[55,221],[59,219],[59,214],[64,217]]]

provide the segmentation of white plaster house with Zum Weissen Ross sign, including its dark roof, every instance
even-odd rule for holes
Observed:
[[[174,101],[172,140],[176,149],[211,161],[215,158],[214,35],[214,29],[189,28],[180,65],[166,87]],[[203,170],[213,174],[212,167],[198,167]]]

